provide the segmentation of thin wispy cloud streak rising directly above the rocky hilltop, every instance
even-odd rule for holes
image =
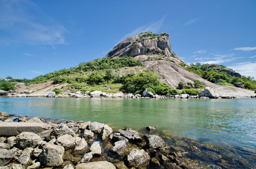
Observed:
[[[131,37],[131,36],[139,34],[141,32],[153,32],[153,33],[159,32],[165,17],[166,16],[163,16],[162,19],[160,19],[159,21],[157,21],[155,23],[146,24],[146,25],[142,25],[142,26],[138,27],[137,29],[133,30],[131,33],[128,33],[127,35],[125,35],[122,39],[120,39],[120,41],[118,41],[118,43],[123,41],[127,37]]]

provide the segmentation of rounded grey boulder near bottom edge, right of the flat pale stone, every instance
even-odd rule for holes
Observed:
[[[149,154],[147,154],[144,149],[132,149],[127,157],[128,164],[131,167],[141,166],[142,164],[149,162],[149,160]]]

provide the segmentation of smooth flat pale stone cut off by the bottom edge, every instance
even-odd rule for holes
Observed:
[[[115,166],[107,161],[96,161],[89,163],[80,163],[76,165],[76,169],[95,168],[95,169],[116,169]]]

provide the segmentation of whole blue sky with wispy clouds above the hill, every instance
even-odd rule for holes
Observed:
[[[255,0],[1,0],[0,78],[32,79],[102,58],[141,32],[169,33],[188,64],[256,78]]]

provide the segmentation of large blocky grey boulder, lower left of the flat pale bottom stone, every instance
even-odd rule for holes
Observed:
[[[60,166],[63,163],[63,146],[46,143],[39,156],[40,162],[48,167]]]

